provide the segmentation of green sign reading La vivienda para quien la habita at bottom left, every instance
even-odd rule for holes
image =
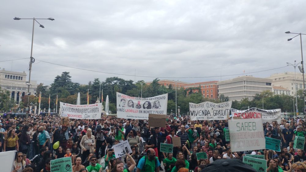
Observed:
[[[71,157],[51,160],[50,168],[51,172],[72,172]]]

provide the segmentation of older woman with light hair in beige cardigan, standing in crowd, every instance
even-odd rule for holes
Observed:
[[[91,129],[88,128],[86,134],[80,142],[82,160],[84,161],[90,153],[95,153],[95,136],[91,134]]]

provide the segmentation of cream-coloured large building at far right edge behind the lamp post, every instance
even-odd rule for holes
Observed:
[[[296,72],[296,79],[294,72],[276,73],[268,77],[268,79],[272,79],[273,86],[280,86],[290,90],[290,95],[295,95],[297,90],[303,89],[303,74],[300,72]]]

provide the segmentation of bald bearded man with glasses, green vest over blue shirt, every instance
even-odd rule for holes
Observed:
[[[137,165],[137,172],[159,172],[160,163],[155,156],[155,150],[149,148],[147,155],[140,158]]]

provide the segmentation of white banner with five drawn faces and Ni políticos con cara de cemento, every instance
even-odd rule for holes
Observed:
[[[167,114],[168,94],[155,97],[130,97],[117,92],[117,117],[149,119],[149,114]]]

